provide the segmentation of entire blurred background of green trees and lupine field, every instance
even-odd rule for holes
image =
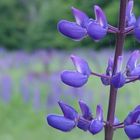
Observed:
[[[116,0],[0,0],[0,140],[102,140],[103,132],[93,136],[78,129],[62,133],[46,123],[48,113],[61,111],[58,100],[75,107],[82,99],[95,114],[102,104],[106,116],[108,87],[100,79],[90,78],[80,89],[64,85],[60,72],[74,69],[70,54],[89,62],[92,70],[104,73],[109,56],[113,56],[115,38],[106,36],[100,42],[86,38],[74,42],[57,31],[60,19],[74,20],[72,6],[94,18],[92,7],[100,5],[110,24],[117,25],[119,1]],[[135,3],[135,14],[140,1]],[[128,36],[124,66],[139,43]],[[118,94],[116,116],[123,121],[128,111],[139,104],[139,81],[123,87]],[[122,130],[115,140],[127,140]]]

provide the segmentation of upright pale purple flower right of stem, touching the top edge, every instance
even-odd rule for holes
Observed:
[[[134,1],[130,0],[126,8],[126,24],[127,26],[133,26],[136,23],[136,17],[133,11]]]

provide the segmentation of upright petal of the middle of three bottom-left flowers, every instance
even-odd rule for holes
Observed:
[[[91,120],[92,119],[92,113],[91,113],[90,108],[87,106],[87,104],[84,103],[83,101],[79,101],[79,106],[80,106],[80,109],[82,111],[83,118],[85,118],[87,120]]]

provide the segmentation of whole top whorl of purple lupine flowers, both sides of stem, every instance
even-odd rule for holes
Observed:
[[[140,18],[135,17],[133,13],[134,1],[130,0],[126,8],[126,34],[133,33],[135,38],[140,41]],[[89,18],[83,11],[72,7],[72,14],[75,22],[61,20],[58,23],[58,30],[64,36],[75,41],[80,41],[89,36],[94,41],[103,39],[107,32],[117,33],[117,28],[108,24],[107,18],[103,10],[98,6],[94,6],[95,19]]]

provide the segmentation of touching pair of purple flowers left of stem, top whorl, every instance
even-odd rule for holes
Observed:
[[[108,24],[106,16],[99,6],[94,6],[96,19],[90,19],[84,12],[72,7],[72,13],[76,22],[61,20],[58,23],[58,30],[63,35],[80,41],[87,35],[94,40],[100,40],[105,37]]]

